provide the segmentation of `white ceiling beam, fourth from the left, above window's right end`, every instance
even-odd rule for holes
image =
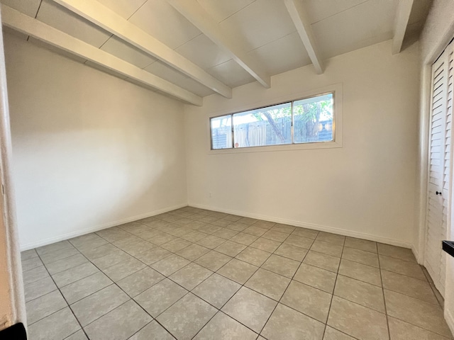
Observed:
[[[311,23],[306,16],[301,0],[284,0],[284,2],[317,74],[322,74],[323,62],[312,33]]]

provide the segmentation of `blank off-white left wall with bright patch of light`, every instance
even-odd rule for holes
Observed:
[[[183,105],[6,35],[21,248],[187,204]]]

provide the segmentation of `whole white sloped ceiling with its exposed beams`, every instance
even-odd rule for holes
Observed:
[[[431,0],[0,0],[6,29],[153,91],[211,94],[393,39],[419,37]]]

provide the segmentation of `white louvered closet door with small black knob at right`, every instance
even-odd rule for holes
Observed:
[[[446,257],[441,241],[448,230],[450,197],[451,116],[453,113],[454,42],[432,67],[431,134],[429,138],[428,205],[424,266],[445,295]]]

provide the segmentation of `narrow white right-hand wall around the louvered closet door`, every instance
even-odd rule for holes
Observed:
[[[427,136],[428,120],[430,117],[428,98],[430,98],[431,64],[443,52],[446,45],[454,38],[454,0],[434,0],[428,14],[426,24],[421,33],[421,113],[420,113],[420,139],[419,139],[419,206],[421,212],[425,209],[426,202],[426,164],[427,164]],[[453,176],[453,174],[451,174]],[[452,199],[453,200],[453,199]],[[452,201],[454,204],[454,200]],[[453,224],[454,206],[451,208],[448,238],[454,240]],[[415,225],[414,244],[421,253],[423,261],[423,242],[425,234],[425,215],[419,215],[419,224]],[[454,259],[447,256],[446,284],[445,284],[445,319],[454,333]]]

